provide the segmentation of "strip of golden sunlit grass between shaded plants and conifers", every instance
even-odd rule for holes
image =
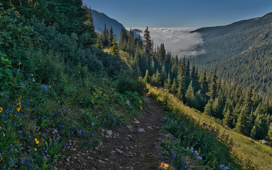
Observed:
[[[158,101],[164,103],[165,109],[171,108],[172,112],[178,113],[178,115],[176,115],[177,117],[184,118],[185,116],[186,118],[192,119],[192,123],[197,122],[197,124],[203,128],[207,128],[208,126],[206,125],[211,125],[212,127],[218,128],[220,134],[229,135],[233,140],[231,155],[236,162],[245,165],[243,169],[272,169],[271,147],[259,143],[258,141],[251,142],[248,137],[225,129],[222,125],[218,124],[214,118],[185,106],[175,96],[162,88],[153,88],[150,85],[147,87],[151,95]]]

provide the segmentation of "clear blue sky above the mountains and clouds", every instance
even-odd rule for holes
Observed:
[[[125,27],[207,27],[261,17],[271,0],[83,0]]]

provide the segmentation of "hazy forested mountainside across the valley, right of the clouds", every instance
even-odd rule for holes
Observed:
[[[217,64],[218,75],[241,85],[253,86],[271,95],[272,13],[226,26],[195,30],[202,33],[205,53],[192,57],[200,70],[210,72]]]

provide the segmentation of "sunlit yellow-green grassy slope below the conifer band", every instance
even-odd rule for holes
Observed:
[[[187,116],[199,121],[200,124],[206,123],[212,126],[220,127],[220,132],[229,134],[233,139],[232,152],[240,157],[240,160],[246,160],[247,158],[252,160],[256,165],[262,167],[262,169],[272,169],[272,150],[264,144],[257,141],[251,142],[248,137],[238,134],[234,131],[225,129],[220,124],[216,123],[215,120],[207,115],[200,114],[194,109],[185,106],[180,100],[173,95],[169,94],[162,88],[152,88],[148,86],[150,94],[157,98],[158,101],[163,101],[169,98],[167,101],[169,105],[176,107],[180,114],[186,114]]]

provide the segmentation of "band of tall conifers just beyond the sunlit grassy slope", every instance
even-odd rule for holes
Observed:
[[[107,30],[106,28],[104,30]],[[102,33],[102,37],[105,32]],[[107,34],[107,31],[106,31]],[[157,47],[150,38],[148,27],[144,41],[124,28],[118,43],[121,58],[143,81],[162,86],[185,104],[217,118],[227,128],[256,140],[272,141],[272,101],[255,89],[245,88],[232,80],[218,78],[217,66],[210,73],[200,72],[185,56],[178,59],[167,52],[164,44]],[[108,43],[105,43],[108,44]],[[112,52],[104,46],[104,51]]]

